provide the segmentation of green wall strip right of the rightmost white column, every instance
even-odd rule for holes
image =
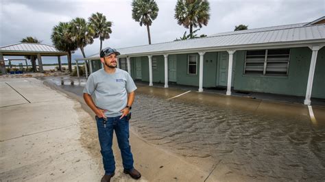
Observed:
[[[320,49],[317,54],[311,97],[325,99],[325,47]]]

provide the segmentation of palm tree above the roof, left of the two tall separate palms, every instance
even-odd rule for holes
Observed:
[[[158,16],[158,5],[154,0],[133,0],[132,1],[132,18],[142,25],[147,26],[149,44],[152,44],[149,26]]]

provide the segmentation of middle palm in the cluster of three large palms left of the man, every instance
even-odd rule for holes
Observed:
[[[80,51],[82,51],[82,55],[86,57],[84,54],[84,47],[86,47],[87,44],[93,44],[93,35],[95,34],[95,31],[88,23],[86,23],[84,18],[73,19],[71,21],[71,26],[72,38],[77,44],[77,47],[80,48]]]

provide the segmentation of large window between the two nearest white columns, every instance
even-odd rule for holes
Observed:
[[[288,75],[290,49],[246,51],[245,74]]]

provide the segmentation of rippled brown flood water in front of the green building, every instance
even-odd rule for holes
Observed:
[[[226,166],[222,181],[232,176],[241,181],[325,180],[325,123],[313,125],[307,116],[257,114],[137,93],[130,125],[149,143]]]

